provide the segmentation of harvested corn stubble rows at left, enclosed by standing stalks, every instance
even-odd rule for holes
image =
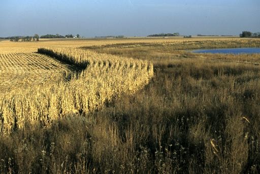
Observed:
[[[26,89],[66,80],[75,67],[37,53],[0,54],[0,91]]]

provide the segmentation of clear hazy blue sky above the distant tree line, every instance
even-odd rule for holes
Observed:
[[[0,37],[260,32],[260,0],[0,0]]]

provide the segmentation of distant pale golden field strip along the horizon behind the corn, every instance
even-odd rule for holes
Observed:
[[[14,52],[37,52],[40,47],[83,47],[83,46],[101,46],[108,44],[121,44],[121,43],[158,43],[158,44],[172,44],[172,43],[182,43],[184,41],[251,41],[251,39],[241,39],[241,38],[226,38],[226,37],[202,37],[202,38],[169,38],[169,39],[41,39],[39,42],[10,42],[8,40],[0,42],[0,53],[14,53]]]

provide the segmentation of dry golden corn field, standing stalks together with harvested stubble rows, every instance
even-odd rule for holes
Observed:
[[[148,61],[72,48],[38,52],[0,55],[3,134],[22,129],[28,122],[48,126],[67,114],[96,111],[113,97],[136,92],[153,76]],[[82,71],[73,72],[76,66]]]

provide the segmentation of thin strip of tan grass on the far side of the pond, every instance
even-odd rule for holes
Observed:
[[[140,47],[141,46],[141,47]],[[87,49],[95,49],[96,51],[102,49],[110,49],[119,52],[122,48],[136,48],[145,50],[154,50],[156,52],[172,52],[173,50],[189,50],[189,49],[206,49],[206,48],[241,48],[241,47],[260,47],[259,39],[193,39],[193,40],[179,40],[179,42],[137,42],[137,43],[114,43],[101,46],[87,46]],[[122,51],[123,53],[124,51]],[[127,52],[127,51],[126,51]],[[112,52],[113,53],[113,52]],[[132,52],[133,53],[133,52]]]

